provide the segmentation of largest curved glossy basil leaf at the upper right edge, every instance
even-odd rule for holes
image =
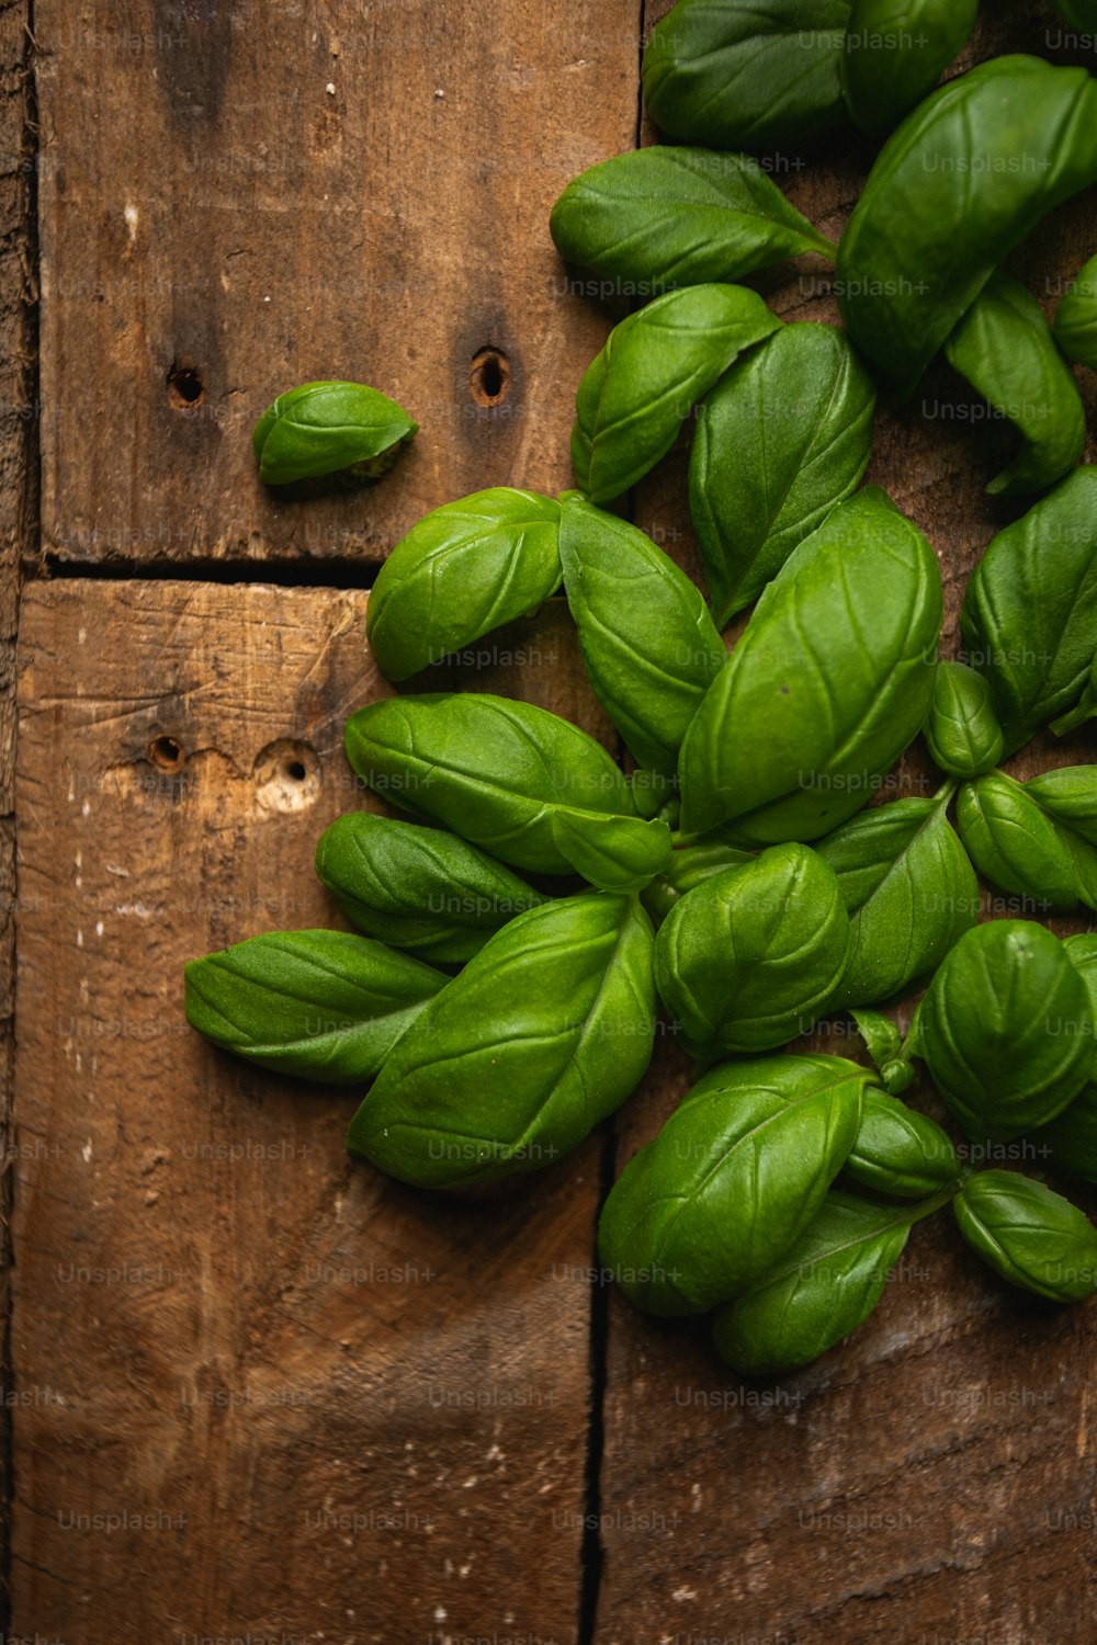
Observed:
[[[1095,179],[1097,84],[1085,69],[993,58],[906,117],[837,255],[850,342],[896,396],[1013,247]]]

